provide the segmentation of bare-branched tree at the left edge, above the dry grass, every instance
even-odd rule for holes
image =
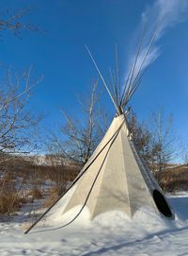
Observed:
[[[0,154],[8,157],[15,153],[28,153],[35,145],[33,129],[41,116],[28,111],[26,104],[31,90],[40,81],[31,78],[31,68],[22,76],[8,71],[6,82],[0,84]]]

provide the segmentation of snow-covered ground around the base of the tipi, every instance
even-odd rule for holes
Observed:
[[[9,223],[0,223],[0,255],[188,255],[188,194],[169,196],[175,220],[164,220],[149,209],[129,219],[104,213],[93,222],[78,220],[64,229],[25,235],[28,207]]]

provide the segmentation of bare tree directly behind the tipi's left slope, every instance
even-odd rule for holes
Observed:
[[[50,150],[72,161],[86,163],[102,139],[107,126],[107,115],[99,103],[98,81],[92,84],[90,94],[77,98],[82,107],[82,119],[78,120],[61,110],[66,120],[66,124],[60,128],[64,139],[60,140],[59,134],[57,136],[52,133]]]

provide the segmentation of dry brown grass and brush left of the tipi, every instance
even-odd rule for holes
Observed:
[[[80,171],[80,166],[36,165],[18,157],[6,165],[0,176],[0,215],[15,213],[27,202],[47,197],[45,207],[50,206],[66,190]],[[48,185],[46,180],[50,181]],[[32,200],[31,200],[32,197]]]

